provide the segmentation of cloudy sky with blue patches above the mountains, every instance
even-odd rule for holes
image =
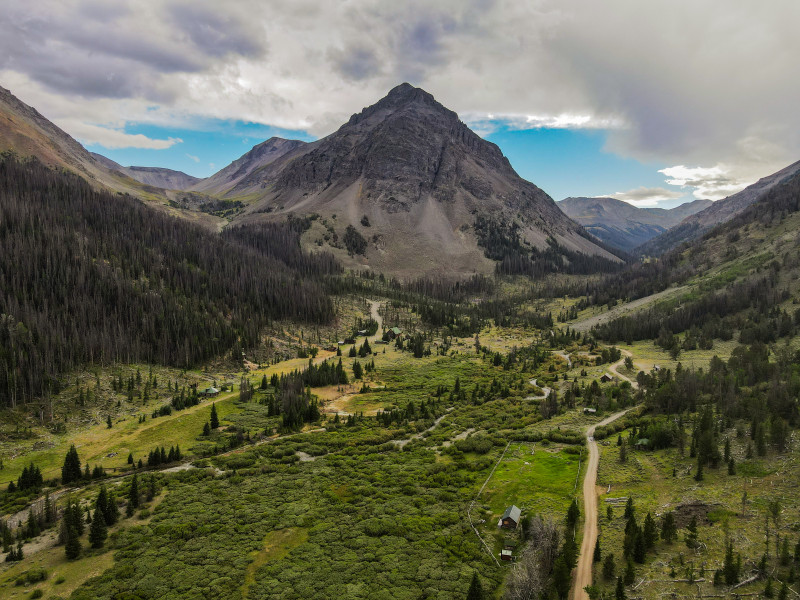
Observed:
[[[717,200],[800,159],[800,2],[0,0],[0,85],[207,176],[408,81],[553,198]]]

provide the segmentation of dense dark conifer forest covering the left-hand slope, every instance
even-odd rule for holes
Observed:
[[[323,323],[292,225],[221,237],[31,160],[0,160],[0,404],[58,391],[81,363],[189,367],[259,343],[273,319]],[[302,276],[302,277],[301,277]]]

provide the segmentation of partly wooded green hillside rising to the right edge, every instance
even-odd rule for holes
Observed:
[[[612,342],[656,339],[674,352],[687,345],[710,348],[714,339],[738,336],[749,344],[796,335],[800,312],[786,303],[798,292],[798,211],[800,174],[774,186],[698,242],[639,268],[644,282],[650,282],[640,282],[640,290],[688,283],[692,291],[681,301],[615,319],[596,335]],[[683,332],[688,332],[683,340],[674,337]]]

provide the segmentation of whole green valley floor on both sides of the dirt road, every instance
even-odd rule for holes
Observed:
[[[364,316],[370,314],[382,320],[378,303],[365,307]],[[509,352],[540,343],[542,332],[492,328],[480,338],[486,349]],[[794,535],[800,519],[793,492],[800,464],[794,450],[745,459],[745,441],[731,430],[737,440],[733,452],[741,458],[739,474],[710,471],[697,484],[691,477],[693,459],[675,449],[632,450],[621,463],[616,433],[594,439],[595,427],[616,419],[613,426],[620,423],[621,435],[627,435],[627,419],[639,409],[625,415],[619,406],[607,405],[587,413],[579,402],[552,418],[542,417],[547,390],[563,399],[573,382],[588,387],[608,374],[612,381],[601,385],[610,392],[635,382],[640,369],[654,364],[672,368],[674,362],[647,344],[624,347],[618,361],[598,365],[597,353],[576,341],[540,350],[535,360],[525,355],[506,368],[495,364],[493,352],[476,351],[471,337],[450,339],[444,350],[444,340],[434,339],[434,351],[423,358],[394,343],[380,343],[378,335],[369,342],[372,353],[358,360],[374,361],[375,370],[355,383],[351,378],[347,385],[314,388],[321,417],[292,433],[280,431],[280,419],[268,414],[268,391],[258,389],[259,382],[302,369],[307,358],[253,365],[246,373],[154,368],[151,374],[145,365],[116,366],[79,374],[77,385],[65,391],[56,403],[66,418],[65,433],[28,429],[30,422],[19,415],[16,424],[9,420],[3,427],[14,438],[3,443],[4,485],[30,462],[42,468],[46,480],[56,478],[66,450],[75,444],[84,462],[106,469],[110,477],[102,483],[122,499],[133,472],[129,453],[136,461],[146,459],[154,447],[180,445],[186,458],[139,472],[156,493],[112,528],[104,548],[88,549],[84,536],[81,557],[68,561],[52,531],[24,544],[22,561],[0,566],[0,595],[22,598],[41,589],[47,597],[75,599],[113,598],[123,590],[143,598],[429,594],[455,600],[465,596],[477,571],[484,587],[499,598],[514,568],[513,562],[499,560],[500,551],[513,548],[518,559],[525,552],[519,530],[497,527],[505,509],[514,504],[524,518],[541,515],[561,523],[577,498],[581,513],[591,511],[576,540],[581,553],[572,592],[585,598],[582,587],[590,582],[613,593],[614,580],[604,578],[591,553],[597,535],[604,553],[618,554],[624,536],[619,502],[627,497],[634,500],[640,520],[647,512],[660,518],[667,510],[696,510],[703,517],[702,549],[690,551],[682,540],[659,543],[643,565],[637,564],[631,596],[655,599],[665,590],[688,596],[698,586],[703,595],[714,595],[727,589],[711,583],[726,540],[747,556],[764,547],[763,514],[770,499],[782,503],[779,535]],[[341,350],[351,372],[350,346]],[[632,370],[624,366],[628,354]],[[339,357],[320,349],[311,359],[314,364],[326,360]],[[698,356],[696,364],[703,360],[708,358]],[[113,377],[135,377],[137,369],[146,381],[158,378],[152,397],[131,403],[111,393]],[[242,376],[256,387],[249,402],[239,400]],[[150,413],[167,401],[163,386],[168,380],[181,387],[195,382],[235,387],[153,418]],[[76,406],[79,389],[96,390],[95,399],[105,402]],[[222,428],[207,439],[201,433],[212,403]],[[105,411],[114,414],[110,428]],[[388,414],[394,417],[387,419]],[[142,422],[140,415],[148,416]],[[249,442],[216,447],[232,427],[248,432]],[[68,493],[88,505],[100,483],[81,484]],[[743,490],[749,494],[746,504]],[[24,521],[28,501],[6,501],[6,520]],[[686,505],[699,508],[681,508]],[[9,519],[12,513],[16,516]],[[622,569],[621,555],[616,558]],[[47,579],[26,583],[26,574],[37,568],[46,571]],[[762,587],[763,581],[753,581],[740,591]]]

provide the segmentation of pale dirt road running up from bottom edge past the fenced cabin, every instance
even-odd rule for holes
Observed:
[[[583,524],[581,554],[578,557],[578,566],[575,567],[575,579],[570,595],[572,600],[589,600],[589,595],[583,588],[592,585],[592,559],[597,541],[597,467],[600,463],[600,452],[597,450],[597,442],[594,441],[594,430],[616,421],[629,410],[631,409],[627,408],[614,413],[586,430],[586,446],[589,448],[589,462],[586,465],[586,477],[583,479],[583,512],[586,519]]]

